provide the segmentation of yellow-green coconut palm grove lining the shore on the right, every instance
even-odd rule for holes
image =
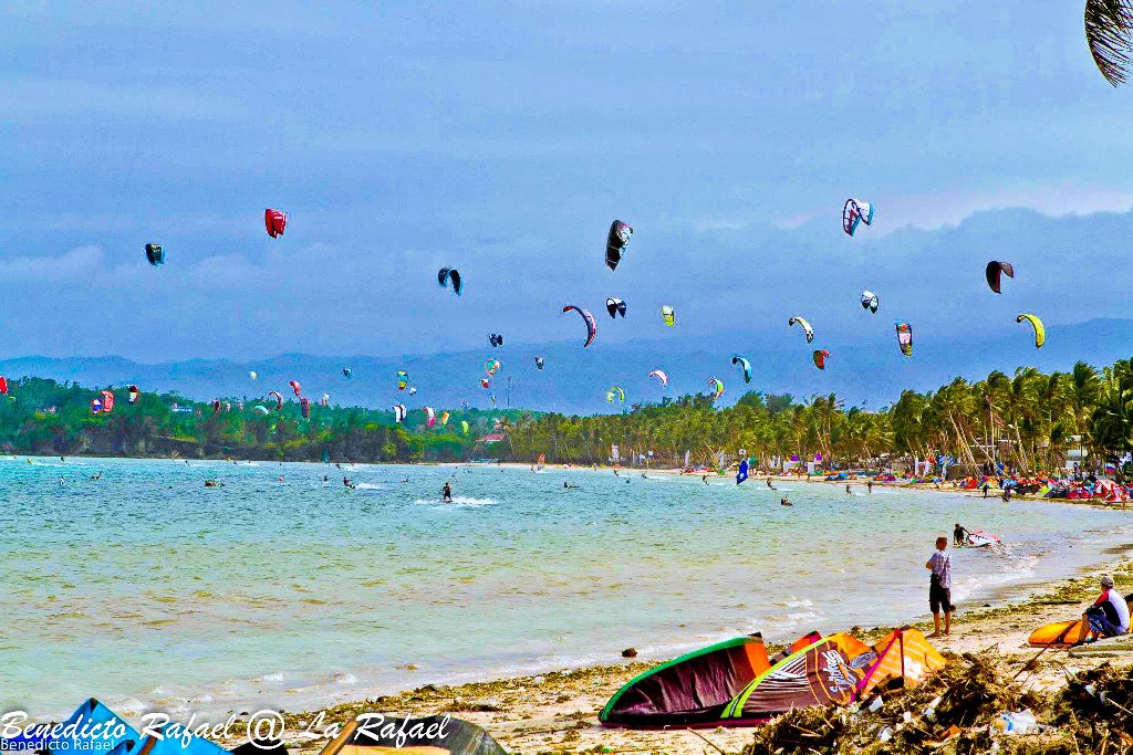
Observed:
[[[985,380],[956,378],[938,391],[905,391],[892,406],[846,409],[836,395],[795,401],[748,393],[729,409],[707,396],[683,396],[634,411],[596,417],[521,415],[506,423],[512,458],[604,463],[613,445],[623,460],[654,453],[681,464],[715,464],[740,448],[758,460],[810,458],[846,465],[885,457],[935,458],[948,454],[969,467],[1006,462],[1020,470],[1055,470],[1079,446],[1098,461],[1133,449],[1133,366],[1119,361],[1099,372],[1079,362],[1071,372],[1020,368]]]

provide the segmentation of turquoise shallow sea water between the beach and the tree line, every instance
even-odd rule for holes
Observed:
[[[440,503],[445,480],[454,505]],[[0,711],[58,715],[90,696],[182,718],[310,710],[614,661],[629,645],[668,657],[756,630],[785,640],[892,624],[927,612],[925,561],[957,521],[1008,543],[954,551],[961,610],[1133,542],[1119,512],[776,484],[7,460]],[[793,507],[780,506],[782,490]]]

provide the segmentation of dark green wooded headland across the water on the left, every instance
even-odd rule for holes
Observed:
[[[224,401],[219,413],[211,403],[174,394],[142,393],[130,404],[122,386],[114,393],[110,413],[93,414],[99,389],[59,384],[42,378],[9,381],[7,401],[0,401],[0,444],[7,453],[43,455],[180,456],[194,458],[256,458],[286,461],[404,462],[460,461],[487,455],[478,438],[497,422],[519,412],[452,411],[448,426],[425,428],[420,411],[402,424],[390,411],[318,406],[304,419],[298,402],[287,402],[267,417],[253,411],[261,398],[240,404]],[[461,434],[460,421],[470,431]]]

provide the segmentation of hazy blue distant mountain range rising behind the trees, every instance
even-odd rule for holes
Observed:
[[[506,344],[502,349],[399,357],[314,357],[280,354],[249,362],[227,359],[140,363],[121,357],[49,358],[22,357],[0,360],[0,374],[9,379],[22,376],[70,380],[87,387],[137,384],[143,391],[176,392],[188,398],[219,396],[256,397],[269,391],[290,395],[288,380],[299,380],[304,394],[313,398],[331,394],[333,403],[369,407],[389,406],[401,401],[410,406],[455,406],[467,401],[471,406],[489,405],[495,395],[501,407],[518,406],[564,413],[616,411],[606,403],[606,391],[620,385],[632,402],[657,402],[663,396],[707,393],[710,378],[721,378],[726,393],[722,403],[734,402],[747,391],[790,393],[798,398],[836,393],[847,405],[878,409],[893,402],[903,389],[929,391],[960,376],[980,379],[990,370],[1008,375],[1017,367],[1038,367],[1045,371],[1070,370],[1075,361],[1096,366],[1110,364],[1133,357],[1133,319],[1096,319],[1076,325],[1048,327],[1047,343],[1036,350],[1023,325],[1010,336],[986,338],[980,333],[957,333],[948,340],[920,342],[915,337],[913,357],[897,350],[892,335],[871,343],[823,344],[829,350],[827,369],[819,371],[811,351],[798,334],[792,348],[742,350],[752,364],[753,379],[744,385],[738,368],[731,364],[730,344],[743,343],[738,333],[721,333],[690,338],[632,341],[625,344],[589,349],[580,344]],[[535,357],[545,358],[545,369],[537,370]],[[485,363],[499,359],[503,367],[484,389],[479,379]],[[342,368],[350,367],[353,378],[346,379]],[[667,389],[646,376],[654,369],[670,376]],[[256,380],[248,372],[258,374]],[[416,396],[397,389],[398,370],[409,372]]]

